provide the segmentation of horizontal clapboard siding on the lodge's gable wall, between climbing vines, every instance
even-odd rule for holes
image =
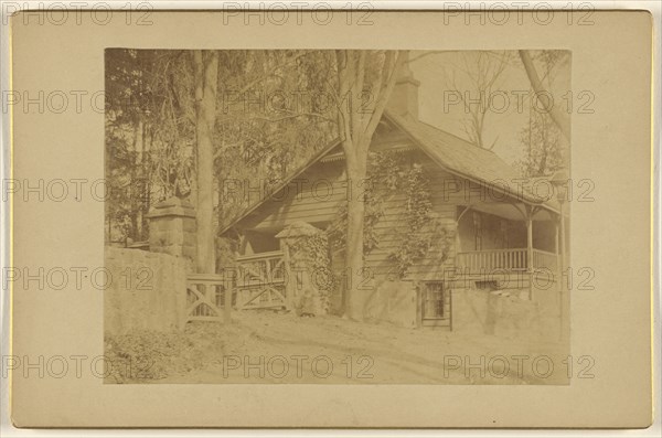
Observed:
[[[435,273],[442,273],[444,269],[455,266],[458,205],[468,204],[467,194],[463,191],[458,192],[455,186],[449,184],[459,184],[470,189],[478,188],[478,184],[453,177],[421,152],[409,151],[404,153],[408,156],[408,160],[405,161],[423,165],[425,175],[429,181],[433,213],[449,233],[447,254],[441,254],[440,249],[434,246],[426,257],[409,267],[408,275],[405,277],[406,279],[429,279],[430,275],[439,275]],[[295,182],[290,183],[286,196],[265,201],[250,216],[242,221],[241,227],[277,232],[297,221],[325,226],[338,217],[339,209],[349,197],[343,169],[344,161],[342,160],[322,161],[313,164],[296,179],[296,181],[303,182],[301,190],[298,190]],[[319,183],[319,181],[324,182]],[[316,183],[318,190],[313,191],[312,186]],[[352,197],[356,199],[361,191],[362,189],[355,185]],[[396,264],[391,255],[408,238],[410,232],[407,224],[406,189],[402,188],[392,193],[386,193],[388,195],[383,199],[384,215],[375,225],[378,245],[365,256],[366,266],[376,277],[393,276],[395,274]],[[282,193],[279,194],[282,195]],[[480,201],[480,196],[474,194],[473,197]],[[332,257],[333,264],[343,266],[337,258]],[[444,261],[441,261],[442,259]]]

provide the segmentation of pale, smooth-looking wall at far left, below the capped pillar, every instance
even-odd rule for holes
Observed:
[[[104,330],[171,331],[184,324],[186,260],[140,249],[105,248],[109,278],[104,291]]]

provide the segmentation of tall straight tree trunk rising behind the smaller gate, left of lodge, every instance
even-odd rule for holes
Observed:
[[[196,139],[196,244],[197,271],[215,273],[214,248],[214,125],[216,122],[216,92],[218,52],[193,51],[195,72],[195,139]]]

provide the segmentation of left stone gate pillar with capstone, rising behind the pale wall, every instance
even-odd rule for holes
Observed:
[[[195,209],[186,201],[170,197],[154,205],[149,214],[149,250],[185,258],[195,266]]]

